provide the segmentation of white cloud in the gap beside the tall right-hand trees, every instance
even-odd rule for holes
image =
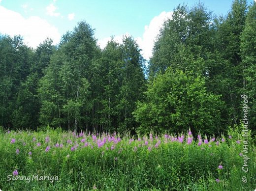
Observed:
[[[136,38],[138,45],[142,49],[142,55],[147,60],[152,56],[154,42],[160,32],[160,28],[165,20],[172,18],[172,13],[173,12],[161,12],[160,15],[150,21],[149,26],[146,25],[144,27],[143,36]]]

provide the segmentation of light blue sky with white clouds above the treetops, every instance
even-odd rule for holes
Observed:
[[[250,1],[250,0],[249,0]],[[252,0],[251,0],[252,1]],[[195,0],[0,0],[0,33],[22,35],[36,48],[47,37],[58,44],[61,36],[81,21],[95,28],[104,48],[111,36],[120,42],[124,34],[136,39],[146,59],[163,21],[171,18],[179,3]],[[232,0],[201,0],[216,15],[226,15]]]

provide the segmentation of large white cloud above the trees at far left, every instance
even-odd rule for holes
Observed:
[[[10,36],[21,35],[24,42],[36,48],[47,37],[53,39],[53,43],[60,41],[61,35],[58,28],[50,25],[40,17],[29,17],[25,19],[21,14],[0,6],[0,33]]]

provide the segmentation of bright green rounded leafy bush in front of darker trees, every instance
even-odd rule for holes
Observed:
[[[220,96],[206,91],[204,79],[192,72],[167,68],[149,84],[146,101],[138,102],[134,116],[141,131],[172,133],[189,127],[192,132],[220,132]]]

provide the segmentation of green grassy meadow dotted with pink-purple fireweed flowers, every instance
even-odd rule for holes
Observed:
[[[239,127],[226,137],[1,131],[0,189],[254,191],[255,146],[241,133]]]

